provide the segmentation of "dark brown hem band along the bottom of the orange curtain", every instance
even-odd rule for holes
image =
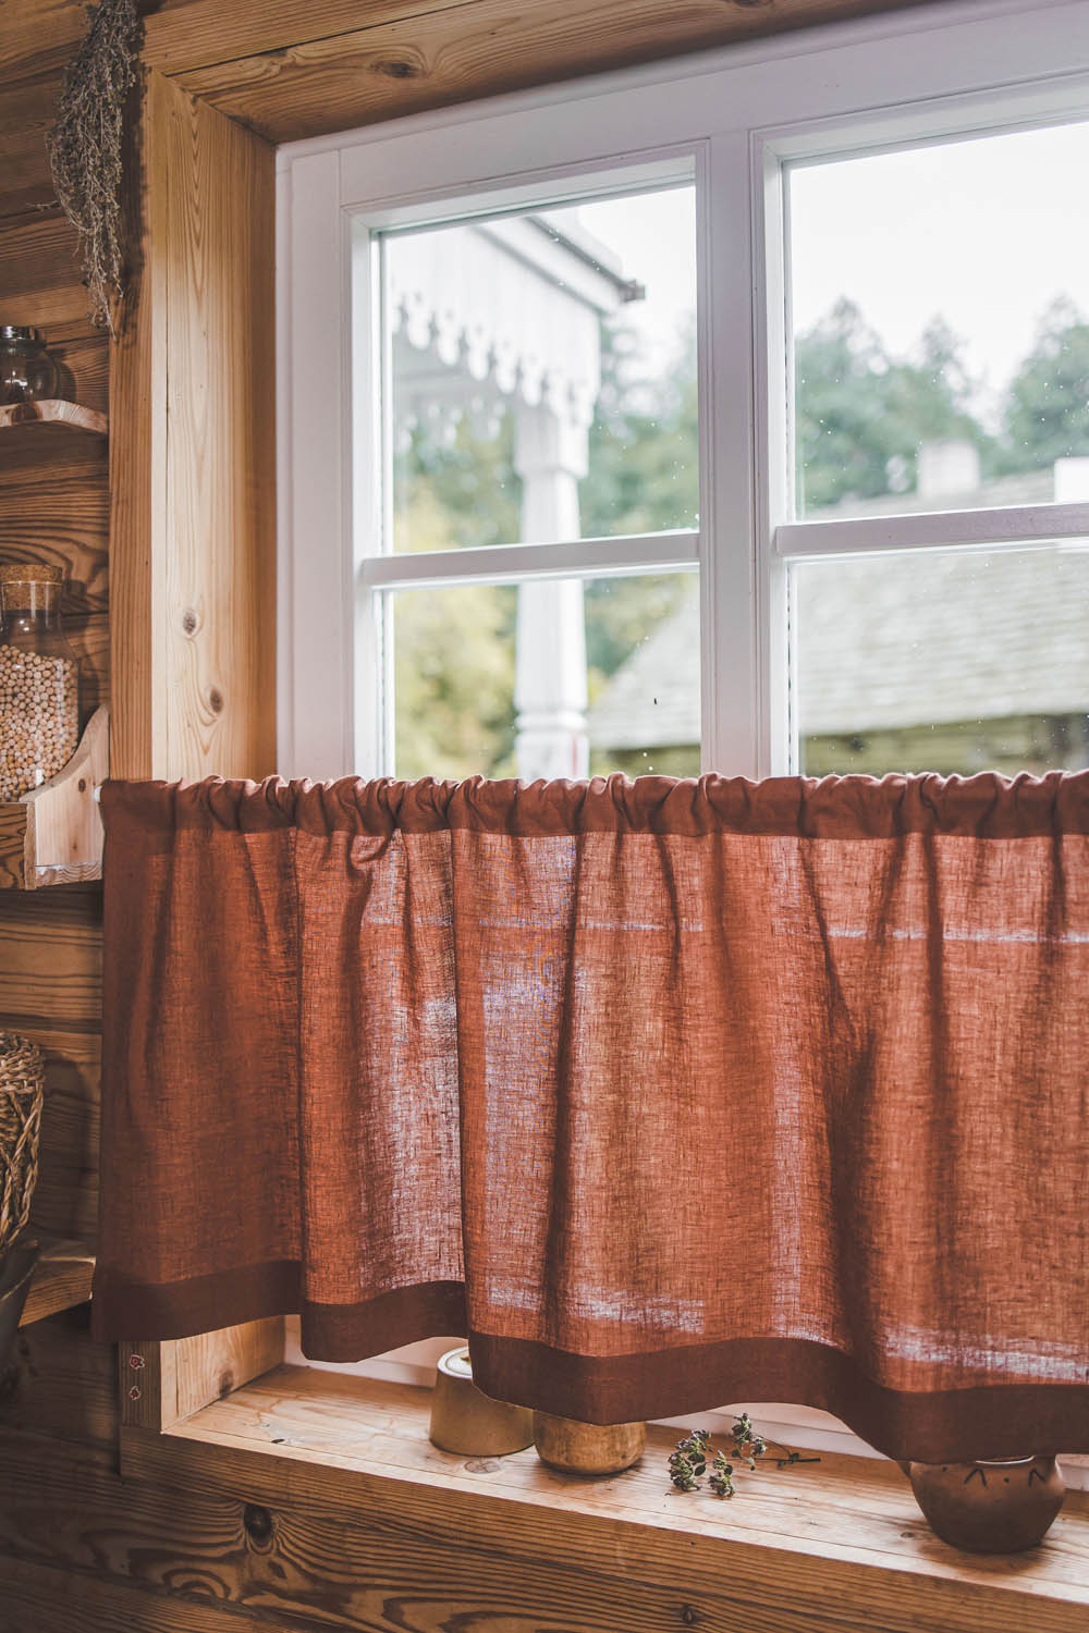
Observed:
[[[921,1462],[1089,1453],[1089,1391],[1078,1383],[989,1383],[906,1393],[869,1378],[842,1350],[808,1339],[727,1339],[630,1355],[575,1355],[469,1328],[460,1282],[395,1288],[358,1305],[299,1298],[297,1264],[264,1264],[165,1287],[95,1279],[100,1339],[173,1339],[263,1316],[302,1316],[312,1360],[361,1360],[469,1331],[487,1395],[586,1422],[632,1422],[790,1401],[842,1419],[887,1457]]]

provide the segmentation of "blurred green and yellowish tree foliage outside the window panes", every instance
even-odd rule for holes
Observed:
[[[803,513],[916,485],[919,444],[965,439],[985,475],[1042,470],[1089,454],[1089,323],[1069,300],[1042,317],[1011,380],[998,431],[981,423],[963,343],[936,317],[908,358],[890,354],[849,300],[795,338],[798,487]],[[400,547],[509,544],[521,480],[509,412],[452,434],[416,426],[398,467]],[[694,336],[651,372],[635,338],[602,325],[602,385],[580,485],[583,536],[699,523]],[[586,585],[591,702],[619,665],[691,593],[679,573]],[[403,776],[514,774],[516,591],[473,585],[397,598],[397,735]]]

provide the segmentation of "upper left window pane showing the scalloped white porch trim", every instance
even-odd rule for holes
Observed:
[[[697,526],[692,186],[384,240],[395,550]]]

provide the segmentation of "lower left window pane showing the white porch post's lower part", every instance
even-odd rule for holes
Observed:
[[[390,593],[393,774],[699,774],[696,573]]]

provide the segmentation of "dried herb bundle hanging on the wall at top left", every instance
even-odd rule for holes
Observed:
[[[64,75],[49,163],[60,206],[80,235],[90,315],[113,335],[122,289],[124,105],[136,83],[144,26],[134,0],[100,0],[88,18]]]

